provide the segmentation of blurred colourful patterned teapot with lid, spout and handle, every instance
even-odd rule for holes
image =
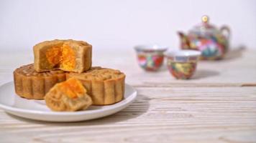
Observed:
[[[229,49],[230,30],[227,26],[217,29],[209,24],[209,17],[202,17],[202,24],[194,26],[188,35],[178,31],[181,49],[201,51],[201,59],[221,59]]]

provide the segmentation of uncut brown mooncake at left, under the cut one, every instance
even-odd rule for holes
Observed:
[[[39,73],[33,64],[21,66],[14,71],[15,92],[26,99],[43,99],[58,82],[65,81],[65,71],[53,70]]]

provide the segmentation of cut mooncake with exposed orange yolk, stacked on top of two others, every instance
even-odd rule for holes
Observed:
[[[62,69],[83,72],[91,68],[92,46],[85,41],[43,41],[33,48],[35,70],[38,72]]]

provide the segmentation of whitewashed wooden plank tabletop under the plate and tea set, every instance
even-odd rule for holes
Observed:
[[[0,56],[0,84],[33,61],[32,51]],[[93,51],[94,66],[121,69],[138,90],[136,101],[109,117],[51,123],[0,110],[0,142],[256,142],[256,51],[234,49],[221,61],[200,61],[191,80],[166,67],[145,72],[133,49]]]

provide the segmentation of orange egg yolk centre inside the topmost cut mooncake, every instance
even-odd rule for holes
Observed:
[[[76,67],[76,53],[69,44],[64,43],[62,46],[52,46],[47,49],[46,58],[52,67],[60,67],[66,70]]]

